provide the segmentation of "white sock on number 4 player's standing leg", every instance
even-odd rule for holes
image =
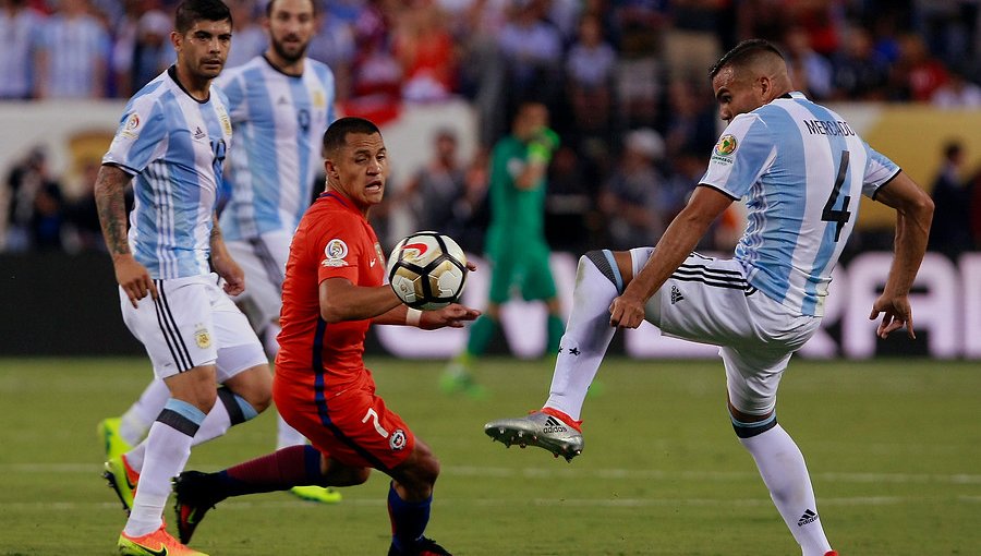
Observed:
[[[824,556],[831,551],[831,544],[818,517],[814,489],[800,448],[779,424],[739,442],[756,461],[770,497],[803,549],[803,556]]]

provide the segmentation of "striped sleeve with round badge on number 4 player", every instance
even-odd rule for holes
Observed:
[[[741,198],[775,157],[776,143],[766,124],[753,113],[737,116],[712,149],[708,169],[699,183]]]

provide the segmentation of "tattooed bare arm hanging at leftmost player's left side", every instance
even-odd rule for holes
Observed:
[[[102,226],[102,237],[112,256],[116,281],[126,292],[135,307],[147,292],[156,300],[157,288],[146,267],[136,262],[126,239],[125,188],[130,174],[116,166],[104,165],[96,178],[95,201]]]

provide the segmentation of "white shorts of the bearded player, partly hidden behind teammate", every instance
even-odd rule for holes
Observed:
[[[225,242],[245,273],[245,291],[232,299],[245,312],[255,330],[262,331],[279,319],[282,279],[292,239],[290,232],[272,231],[251,240]]]

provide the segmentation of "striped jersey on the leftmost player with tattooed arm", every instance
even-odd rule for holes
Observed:
[[[155,279],[208,274],[214,210],[231,142],[225,95],[198,101],[171,67],[126,104],[102,164],[135,177],[130,249]]]

